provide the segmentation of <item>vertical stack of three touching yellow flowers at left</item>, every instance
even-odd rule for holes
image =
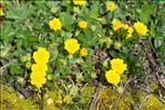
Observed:
[[[31,84],[37,88],[41,88],[47,82],[47,70],[50,53],[44,47],[39,47],[37,52],[33,53],[33,58],[35,64],[31,66]]]

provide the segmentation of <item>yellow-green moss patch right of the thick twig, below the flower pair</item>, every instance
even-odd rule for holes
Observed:
[[[134,103],[131,92],[120,95],[113,88],[101,88],[95,109],[132,110]]]

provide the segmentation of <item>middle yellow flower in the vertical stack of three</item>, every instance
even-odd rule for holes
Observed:
[[[47,72],[48,66],[45,64],[33,64],[31,66],[31,70],[32,72]]]

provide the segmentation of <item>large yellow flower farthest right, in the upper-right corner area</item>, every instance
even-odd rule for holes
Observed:
[[[146,35],[147,34],[147,26],[144,23],[137,21],[134,23],[134,28],[140,35]]]

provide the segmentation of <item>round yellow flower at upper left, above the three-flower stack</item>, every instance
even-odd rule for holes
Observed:
[[[58,18],[54,18],[53,20],[51,20],[49,22],[49,25],[50,25],[50,29],[52,29],[54,31],[61,30],[61,28],[62,28],[62,23],[61,23],[60,19],[58,19]]]

